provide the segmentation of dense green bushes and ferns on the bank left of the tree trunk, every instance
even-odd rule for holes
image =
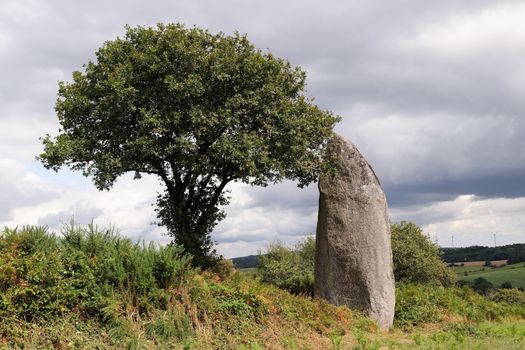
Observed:
[[[0,315],[50,318],[71,310],[114,319],[126,305],[165,308],[195,271],[177,246],[132,243],[73,224],[63,235],[26,227],[0,233]],[[119,302],[115,301],[118,295]]]

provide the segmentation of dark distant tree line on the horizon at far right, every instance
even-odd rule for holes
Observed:
[[[500,247],[443,248],[442,257],[447,263],[508,260],[509,264],[515,264],[525,261],[525,244],[510,244]]]

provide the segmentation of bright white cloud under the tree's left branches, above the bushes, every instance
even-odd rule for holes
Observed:
[[[115,225],[122,234],[133,239],[169,241],[162,235],[165,230],[152,225],[155,221],[152,204],[160,189],[155,178],[146,176],[135,181],[132,176],[124,176],[111,191],[100,192],[79,175],[56,176],[63,181],[50,183],[55,192],[59,191],[59,196],[36,205],[15,208],[12,218],[4,225],[46,224],[59,228],[73,217],[80,224],[93,219],[102,227]]]

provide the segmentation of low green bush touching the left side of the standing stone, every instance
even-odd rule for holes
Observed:
[[[261,280],[295,294],[312,296],[314,289],[315,239],[308,237],[293,249],[277,242],[259,257]]]

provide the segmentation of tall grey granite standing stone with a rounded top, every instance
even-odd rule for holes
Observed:
[[[336,135],[328,149],[337,174],[319,180],[314,295],[363,310],[388,329],[395,286],[385,195],[350,141]]]

